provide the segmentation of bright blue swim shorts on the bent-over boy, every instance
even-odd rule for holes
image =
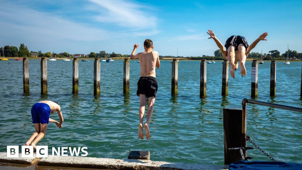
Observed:
[[[47,123],[49,122],[50,107],[46,103],[36,103],[31,107],[31,118],[33,123]]]

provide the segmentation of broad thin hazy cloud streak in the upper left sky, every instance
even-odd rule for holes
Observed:
[[[13,3],[1,5],[0,16],[1,25],[8,27],[9,33],[15,36],[32,35],[49,40],[98,41],[108,38],[111,34],[104,29],[88,27]]]

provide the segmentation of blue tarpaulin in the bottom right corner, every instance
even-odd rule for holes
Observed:
[[[302,170],[302,164],[286,162],[237,161],[229,170]]]

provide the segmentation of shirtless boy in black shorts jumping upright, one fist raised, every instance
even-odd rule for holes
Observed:
[[[148,97],[147,121],[144,126],[146,139],[149,139],[149,124],[158,88],[155,78],[155,67],[160,67],[159,55],[157,51],[152,51],[153,42],[150,39],[146,39],[144,42],[145,52],[135,55],[137,47],[138,44],[135,44],[130,59],[140,59],[140,80],[137,82],[137,96],[140,96],[140,125],[138,126],[138,136],[140,139],[144,139],[143,118],[145,114],[146,98]]]

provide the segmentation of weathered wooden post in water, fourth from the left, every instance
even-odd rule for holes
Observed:
[[[100,58],[95,58],[93,74],[93,95],[101,94],[101,63]]]

